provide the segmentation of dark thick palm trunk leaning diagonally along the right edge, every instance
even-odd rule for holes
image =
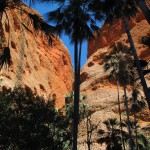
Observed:
[[[142,71],[142,68],[141,68],[141,65],[140,65],[140,62],[139,62],[139,59],[138,59],[138,55],[137,55],[137,52],[136,52],[136,49],[135,49],[135,46],[134,46],[134,42],[133,42],[129,27],[128,27],[128,24],[127,24],[126,17],[125,17],[123,12],[122,12],[121,15],[122,15],[123,24],[124,24],[124,27],[126,29],[126,33],[127,33],[127,36],[128,36],[129,42],[130,42],[130,46],[131,46],[131,50],[132,50],[132,53],[133,53],[133,56],[134,56],[134,60],[136,62],[138,74],[139,74],[139,77],[141,79],[141,84],[143,86],[144,94],[146,96],[146,100],[147,100],[147,103],[148,103],[148,106],[149,106],[149,109],[150,109],[150,92],[147,88],[147,84],[146,84],[146,81],[145,81],[145,78],[144,78],[144,75],[143,75],[143,71]]]

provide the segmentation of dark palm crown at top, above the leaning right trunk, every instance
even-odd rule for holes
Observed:
[[[99,15],[99,12],[105,14],[106,22],[112,23],[113,20],[121,18],[121,12],[127,18],[135,17],[138,9],[133,0],[92,0],[91,9]]]

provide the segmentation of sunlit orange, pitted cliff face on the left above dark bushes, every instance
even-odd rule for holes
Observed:
[[[1,87],[23,86],[38,95],[56,99],[56,107],[64,104],[64,96],[72,91],[71,58],[62,41],[52,37],[52,45],[42,31],[35,31],[27,12],[41,16],[25,4],[3,13],[0,33],[1,49],[9,46],[11,66],[0,72]],[[8,21],[9,20],[9,21]]]

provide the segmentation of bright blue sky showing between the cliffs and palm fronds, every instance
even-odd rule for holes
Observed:
[[[40,4],[35,4],[31,7],[34,8],[35,10],[37,10],[43,16],[43,18],[45,18],[44,15],[47,12],[54,10],[57,7],[57,5],[54,5],[51,3],[49,3],[49,4],[46,4],[46,3],[41,4],[40,3]],[[45,20],[46,20],[46,18],[45,18]],[[72,65],[74,66],[74,45],[70,44],[70,40],[69,40],[68,36],[63,34],[60,38],[63,41],[63,43],[65,44],[65,46],[68,48],[71,58],[72,58]],[[85,64],[86,60],[87,60],[87,41],[84,41],[83,45],[82,45],[81,66],[83,66]]]

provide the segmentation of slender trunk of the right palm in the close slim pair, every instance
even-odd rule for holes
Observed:
[[[127,100],[127,93],[126,93],[126,86],[123,83],[123,90],[124,90],[124,103],[126,106],[126,114],[127,114],[127,125],[128,125],[128,132],[129,132],[129,142],[130,142],[130,150],[133,150],[133,140],[132,140],[132,131],[130,125],[130,118],[129,118],[129,108],[128,108],[128,100]]]

